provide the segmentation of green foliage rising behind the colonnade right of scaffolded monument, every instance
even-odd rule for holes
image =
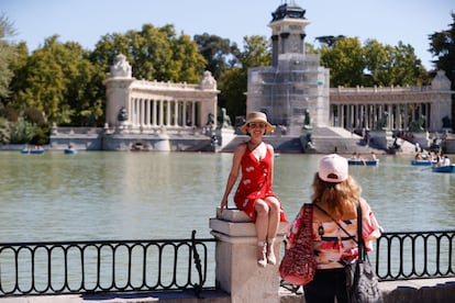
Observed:
[[[368,40],[337,38],[333,47],[321,47],[321,64],[330,68],[331,87],[415,86],[429,81],[414,48],[399,42],[382,45]]]

